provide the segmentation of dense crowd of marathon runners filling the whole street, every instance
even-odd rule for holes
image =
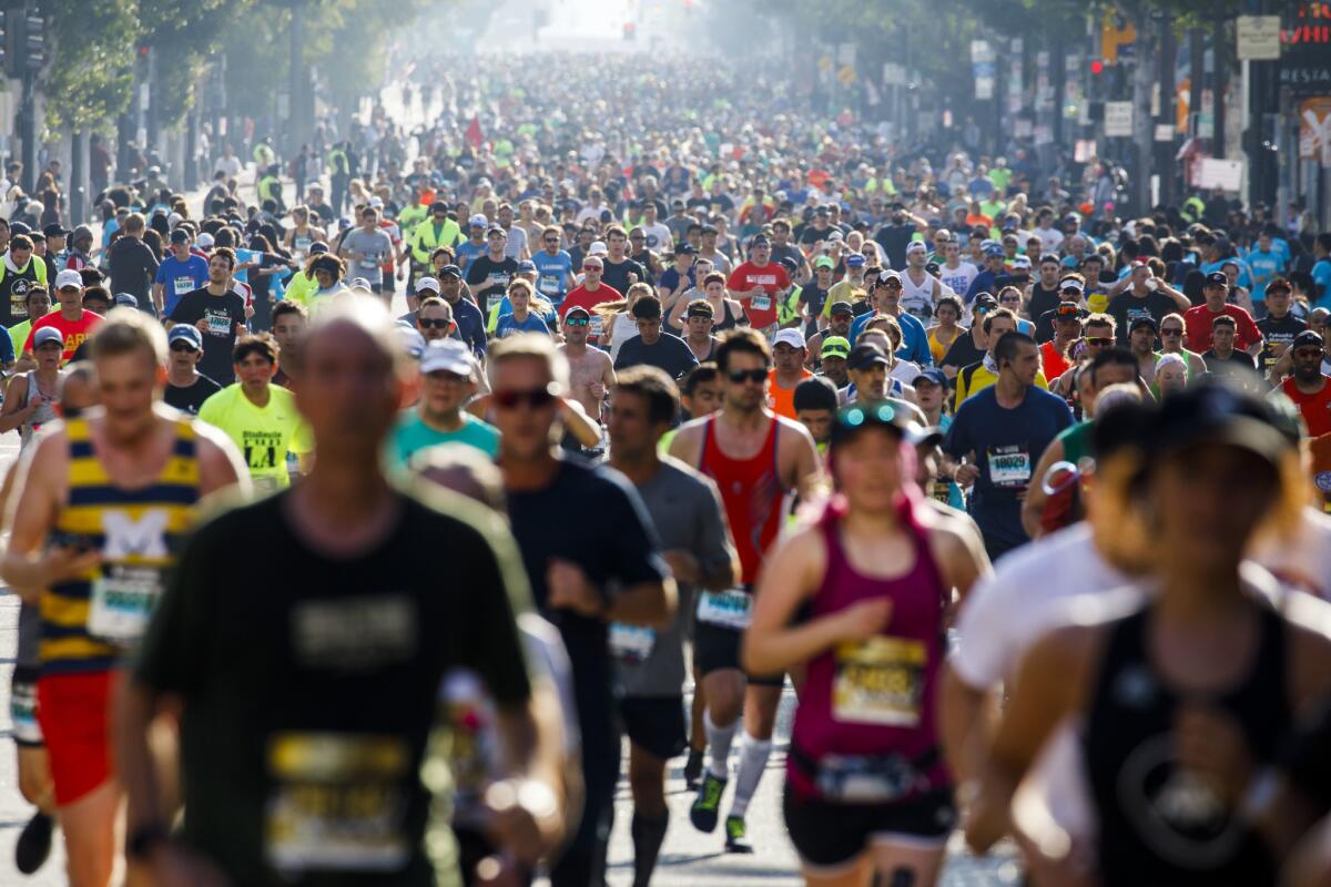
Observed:
[[[17,871],[1324,883],[1331,233],[672,65],[0,222]]]

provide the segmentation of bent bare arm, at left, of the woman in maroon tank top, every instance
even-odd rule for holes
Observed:
[[[865,640],[886,626],[892,601],[860,601],[836,613],[792,625],[800,605],[817,593],[827,569],[821,528],[811,527],[780,545],[768,560],[753,597],[740,662],[751,674],[783,672],[808,662],[839,641]]]

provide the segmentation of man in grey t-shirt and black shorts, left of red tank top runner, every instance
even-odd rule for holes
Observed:
[[[666,828],[666,762],[684,749],[684,630],[693,589],[735,585],[739,560],[716,485],[677,459],[658,455],[679,412],[671,379],[655,367],[619,374],[607,423],[610,465],[638,488],[679,588],[679,610],[662,630],[611,626],[619,713],[628,734],[634,797],[634,887],[647,887]]]

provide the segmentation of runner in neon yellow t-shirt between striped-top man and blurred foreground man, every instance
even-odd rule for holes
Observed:
[[[285,489],[291,483],[290,453],[297,455],[298,472],[306,473],[314,442],[294,395],[273,384],[277,344],[268,334],[248,335],[236,343],[233,362],[240,382],[209,396],[198,408],[198,419],[234,442],[257,491]]]

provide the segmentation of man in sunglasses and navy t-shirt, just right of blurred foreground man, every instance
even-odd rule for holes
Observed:
[[[567,379],[555,375],[550,338],[502,339],[490,351],[490,375],[512,532],[536,608],[559,626],[568,649],[582,731],[582,822],[551,883],[602,884],[620,755],[611,622],[664,628],[675,586],[638,492],[619,473],[564,459],[551,447]],[[576,520],[568,519],[570,508]]]

